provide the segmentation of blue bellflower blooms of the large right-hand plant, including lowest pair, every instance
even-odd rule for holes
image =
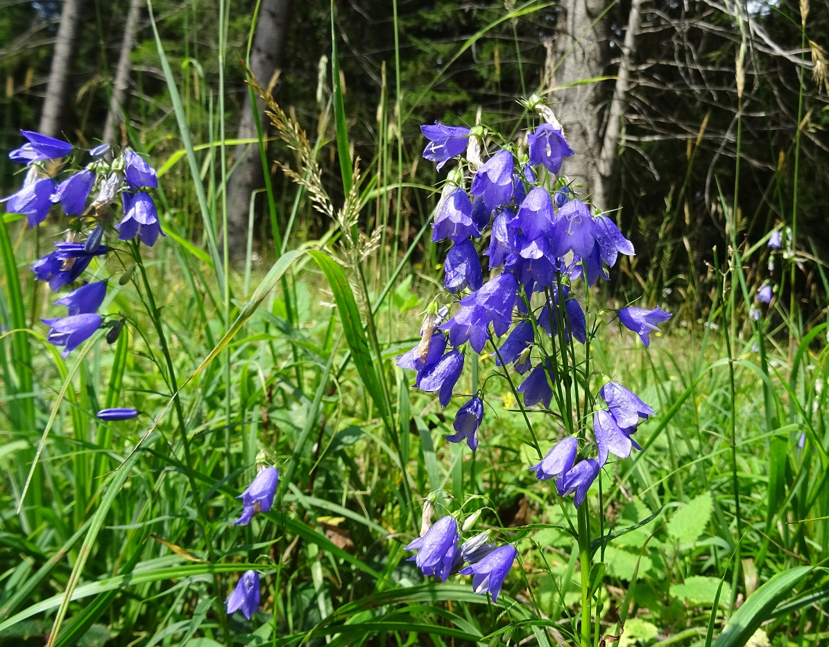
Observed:
[[[619,254],[632,256],[634,250],[613,220],[594,213],[576,196],[574,186],[557,176],[565,158],[574,152],[549,107],[536,97],[527,106],[541,115],[542,123],[527,134],[523,154],[505,144],[484,161],[487,133],[481,126],[435,123],[421,127],[429,139],[424,157],[436,162],[438,169],[465,152],[458,167],[448,173],[435,209],[432,236],[435,242],[449,239],[452,243],[444,263],[444,286],[455,300],[449,307],[430,307],[420,343],[401,355],[398,365],[414,370],[415,386],[439,394],[441,406],[446,407],[463,372],[465,353],[471,350],[480,355],[488,344],[487,353],[496,357],[498,367],[506,371],[511,366],[521,376],[515,391],[524,405],[541,404],[549,410],[555,397],[564,420],[572,413],[565,412],[561,384],[556,380],[561,379],[560,373],[573,370],[565,356],[568,346],[573,340],[585,344],[593,334],[591,313],[585,314],[576,289],[580,284],[586,293],[599,279],[608,280],[608,270]],[[476,241],[487,237],[488,244],[480,245],[491,275],[485,280]],[[618,311],[618,321],[646,347],[650,334],[670,317],[658,307]],[[583,376],[585,391],[589,379]],[[570,384],[566,379],[564,388],[570,389]],[[470,449],[477,449],[484,388],[459,408],[449,442],[466,441]],[[541,480],[555,479],[559,495],[574,495],[576,506],[584,502],[609,454],[623,458],[633,447],[640,448],[633,433],[639,422],[654,413],[615,382],[604,384],[599,397],[606,408],[593,416],[595,442],[589,442],[586,429],[575,433],[579,422],[565,421],[573,435],[556,442],[530,468]],[[585,393],[584,402],[592,407],[597,400]],[[592,447],[595,456],[591,456]],[[444,519],[408,547],[420,549],[416,561],[424,574],[442,579],[458,571],[463,558],[463,550],[456,550],[456,525],[453,521],[441,524]],[[474,574],[475,591],[492,591],[494,599],[515,556],[512,547],[497,548],[459,572]]]

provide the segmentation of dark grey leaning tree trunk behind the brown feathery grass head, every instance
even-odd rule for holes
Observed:
[[[253,49],[250,52],[250,71],[263,86],[267,86],[282,62],[285,37],[288,27],[290,0],[262,0],[259,7],[259,22],[254,34]],[[267,127],[264,119],[264,104],[256,101],[256,109],[262,120],[262,127]],[[245,92],[245,104],[239,124],[239,138],[255,138],[256,123],[254,107],[250,96]],[[227,187],[227,244],[231,258],[245,256],[248,236],[248,219],[250,214],[250,196],[264,186],[262,158],[259,146],[246,144],[236,147],[234,164],[238,165],[230,176]]]

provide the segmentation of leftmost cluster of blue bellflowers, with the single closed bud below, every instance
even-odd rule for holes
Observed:
[[[48,282],[52,292],[81,278],[92,259],[110,251],[105,240],[132,240],[155,244],[164,235],[158,212],[148,193],[158,187],[158,176],[138,153],[129,148],[117,151],[102,144],[88,152],[91,161],[79,167],[80,151],[68,142],[41,133],[21,131],[27,143],[9,153],[13,162],[26,164],[27,175],[20,191],[0,202],[10,214],[25,215],[30,226],[46,220],[60,205],[70,216],[66,239],[32,265],[38,281]],[[121,207],[122,215],[115,213]],[[107,281],[87,282],[55,302],[66,315],[42,319],[50,326],[46,336],[51,344],[63,347],[66,357],[102,326],[109,329],[109,343],[117,339],[123,322],[104,321],[99,308],[106,296]],[[108,421],[134,418],[133,408],[109,408],[99,412]]]

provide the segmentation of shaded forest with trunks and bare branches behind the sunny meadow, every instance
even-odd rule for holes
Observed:
[[[218,141],[222,127],[227,138],[256,137],[242,65],[250,60],[260,82],[273,84],[279,104],[327,149],[320,156],[323,170],[332,195],[342,196],[329,118],[327,2],[236,0],[226,34],[219,33],[216,2],[157,0],[152,8],[196,145]],[[257,10],[254,35],[250,24]],[[812,253],[829,242],[823,226],[829,80],[822,49],[829,47],[829,0],[400,0],[396,7],[350,0],[335,2],[335,23],[353,154],[372,172],[382,167],[409,185],[393,196],[402,201],[404,221],[395,228],[399,249],[429,218],[435,200],[416,187],[435,181],[431,165],[419,158],[419,124],[439,119],[471,125],[480,113],[482,123],[497,129],[520,117],[516,99],[534,92],[560,102],[556,113],[586,160],[569,172],[587,183],[596,204],[608,212],[621,209],[618,220],[638,251],[628,285],[647,287],[652,302],[667,298],[688,316],[704,314],[705,289],[693,288],[710,278],[712,249],[724,249],[728,238],[720,191],[730,202],[740,111],[739,234],[751,242],[776,224],[791,224],[793,202],[783,196],[793,195],[798,177],[799,247]],[[18,128],[40,128],[90,146],[113,138],[125,142],[132,132],[157,164],[181,159],[175,157],[182,146],[143,0],[6,0],[0,43],[3,152],[18,145]],[[226,91],[219,97],[222,74]],[[290,158],[283,144],[269,145],[271,160]],[[251,191],[261,188],[262,178],[256,145],[237,148],[229,154],[227,209],[230,252],[244,256]],[[383,150],[387,157],[378,159]],[[194,200],[186,165],[165,170],[170,214],[197,241],[196,219],[187,214]],[[280,220],[287,218],[296,188],[278,165],[271,170]],[[15,171],[0,156],[4,195],[17,185]],[[271,258],[273,223],[264,194],[257,200],[255,249]],[[298,225],[300,236],[328,227],[310,207]],[[797,281],[802,299],[822,301],[817,278],[804,274]],[[618,289],[625,290],[624,282]]]

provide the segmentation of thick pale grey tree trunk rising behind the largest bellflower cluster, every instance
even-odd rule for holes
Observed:
[[[549,50],[555,69],[553,86],[560,88],[552,97],[560,102],[555,113],[575,152],[565,160],[563,172],[584,185],[581,192],[589,192],[591,201],[600,208],[607,200],[599,172],[605,93],[598,82],[575,83],[603,75],[608,65],[609,21],[604,17],[596,20],[605,6],[604,0],[562,0],[555,41]],[[560,87],[564,85],[569,87]]]

